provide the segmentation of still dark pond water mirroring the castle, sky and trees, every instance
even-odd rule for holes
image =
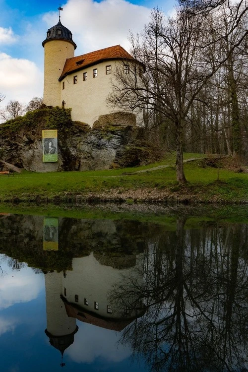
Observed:
[[[248,371],[248,224],[165,220],[0,214],[1,371]]]

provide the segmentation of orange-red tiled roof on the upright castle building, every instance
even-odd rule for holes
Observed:
[[[114,45],[113,47],[108,47],[100,49],[95,52],[90,52],[83,54],[78,57],[68,58],[65,61],[62,74],[59,78],[61,81],[66,75],[71,72],[81,70],[82,68],[92,66],[96,63],[102,62],[103,60],[132,60],[135,59],[127,53],[121,45]]]

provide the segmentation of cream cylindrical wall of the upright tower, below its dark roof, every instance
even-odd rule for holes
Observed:
[[[51,40],[44,45],[44,96],[47,106],[61,106],[59,77],[67,58],[74,57],[74,46],[65,40]]]

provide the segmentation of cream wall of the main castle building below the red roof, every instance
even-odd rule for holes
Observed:
[[[106,98],[112,90],[111,79],[115,79],[114,71],[121,61],[105,61],[94,66],[87,67],[66,76],[64,89],[61,82],[61,103],[65,102],[65,108],[72,108],[71,118],[73,121],[80,121],[92,124],[99,115],[110,114],[114,110],[107,106]],[[111,65],[111,74],[106,74],[106,66]],[[93,77],[93,69],[97,68],[97,77]],[[87,72],[87,80],[83,81],[83,73]],[[73,84],[73,76],[77,75],[77,84]]]

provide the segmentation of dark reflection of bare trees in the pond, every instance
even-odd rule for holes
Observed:
[[[234,371],[248,356],[247,226],[177,230],[148,243],[144,263],[112,293],[145,315],[122,342],[153,371]]]

